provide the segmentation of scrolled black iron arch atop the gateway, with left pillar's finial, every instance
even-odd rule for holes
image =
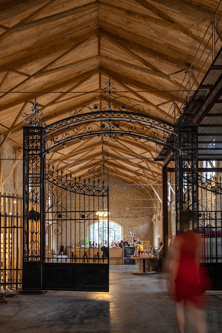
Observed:
[[[44,154],[74,140],[96,135],[101,136],[104,142],[116,142],[123,136],[149,140],[176,153],[174,143],[168,140],[170,135],[178,135],[176,125],[151,116],[150,109],[132,104],[128,97],[116,96],[118,92],[110,79],[105,85],[102,91],[104,96],[91,98],[86,105],[70,110],[70,117],[48,126],[35,99],[32,113],[24,113],[23,117],[26,126],[44,126]]]

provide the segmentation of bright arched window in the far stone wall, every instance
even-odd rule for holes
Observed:
[[[109,230],[107,226],[107,222],[103,223],[99,221],[97,223],[92,224],[89,227],[89,240],[91,242],[104,243],[105,240],[108,240],[108,232],[109,232],[109,243],[112,241],[120,241],[122,239],[122,227],[121,225],[109,221]]]

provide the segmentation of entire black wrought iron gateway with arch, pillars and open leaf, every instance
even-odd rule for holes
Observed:
[[[108,156],[103,157],[105,161],[97,171],[90,171],[91,180],[72,178],[45,165],[47,153],[74,140],[102,136],[105,142],[116,142],[122,136],[131,136],[175,153],[177,230],[183,229],[183,209],[192,208],[193,228],[198,225],[198,177],[194,179],[191,174],[198,167],[197,127],[190,124],[192,115],[184,109],[179,124],[173,125],[150,116],[150,110],[132,105],[128,98],[125,104],[118,105],[120,96],[115,96],[113,85],[109,80],[103,89],[104,97],[91,99],[88,105],[70,111],[71,117],[49,126],[42,126],[44,120],[36,101],[32,113],[25,115],[28,126],[24,127],[23,151],[23,292],[41,292],[44,288],[108,291],[106,249],[101,254],[87,246],[84,254],[81,252],[81,243],[85,249],[87,228],[99,220],[96,212],[100,202],[106,199],[108,204],[108,185],[97,178]],[[106,104],[103,110],[98,99]],[[89,112],[83,113],[83,108]],[[65,243],[64,257],[57,252],[60,242]]]

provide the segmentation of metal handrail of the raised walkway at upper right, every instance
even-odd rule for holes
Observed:
[[[186,71],[185,76],[182,80],[182,83],[180,85],[180,88],[174,98],[174,101],[172,102],[172,105],[170,106],[170,109],[166,115],[165,120],[168,118],[168,122],[173,119],[173,123],[175,124],[178,118],[178,115],[181,112],[181,109],[183,108],[183,101],[188,96],[189,98],[195,93],[197,88],[195,89],[195,84],[199,86],[198,78],[201,77],[201,75],[206,74],[206,71],[209,68],[209,59],[212,55],[212,61],[214,61],[218,51],[220,50],[222,46],[222,40],[221,35],[222,31],[218,32],[218,26],[222,19],[222,14],[220,14],[220,17],[217,19],[218,10],[221,7],[222,0],[220,0],[215,13],[214,18],[209,22],[209,25],[204,33],[204,36],[197,48],[197,51],[195,52],[195,55],[190,63],[189,69]],[[206,36],[208,36],[207,42],[205,42]],[[216,38],[217,34],[217,38]],[[202,52],[200,53],[201,48],[203,48]],[[188,94],[185,93],[188,90]],[[173,110],[172,110],[173,108]],[[177,111],[177,112],[176,112]],[[172,122],[172,121],[171,121]]]

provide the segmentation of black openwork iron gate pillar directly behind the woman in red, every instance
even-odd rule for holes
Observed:
[[[192,231],[198,231],[198,126],[189,125],[192,118],[181,117],[175,156],[176,233],[184,232],[182,214],[192,210]],[[184,114],[182,114],[184,116]]]

